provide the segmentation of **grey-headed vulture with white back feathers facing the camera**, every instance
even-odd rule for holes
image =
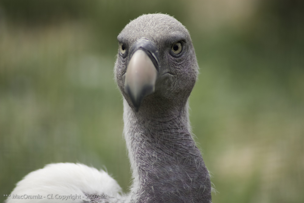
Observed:
[[[192,137],[188,97],[198,64],[188,30],[166,14],[139,16],[119,33],[114,73],[132,187],[105,171],[54,163],[26,175],[6,203],[211,203],[209,172]]]

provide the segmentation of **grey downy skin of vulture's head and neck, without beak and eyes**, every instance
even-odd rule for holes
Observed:
[[[155,91],[143,98],[138,112],[125,92],[129,59],[118,53],[116,60],[134,178],[131,202],[211,202],[209,174],[189,125],[188,97],[198,64],[188,30],[171,16],[149,14],[131,21],[117,38],[126,51],[140,39],[152,41],[160,60]],[[172,56],[176,42],[182,51]]]

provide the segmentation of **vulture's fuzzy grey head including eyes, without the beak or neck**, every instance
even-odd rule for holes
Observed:
[[[115,78],[130,107],[133,107],[130,96],[124,91],[125,73],[130,49],[141,39],[155,44],[159,54],[155,91],[143,99],[142,106],[146,107],[143,109],[151,107],[149,109],[154,111],[151,103],[162,110],[185,105],[198,75],[195,51],[185,26],[172,16],[147,14],[127,24],[117,39],[119,51],[114,68]]]

